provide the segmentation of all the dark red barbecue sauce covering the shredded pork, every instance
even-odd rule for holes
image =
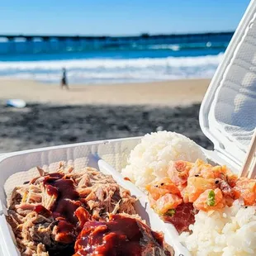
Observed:
[[[44,206],[35,206],[34,211],[43,216],[53,216],[58,223],[55,240],[66,244],[66,249],[49,249],[50,255],[172,255],[164,247],[163,236],[150,230],[140,220],[112,215],[109,221],[92,221],[83,207],[73,179],[62,173],[44,176],[45,191],[56,197],[50,211]]]

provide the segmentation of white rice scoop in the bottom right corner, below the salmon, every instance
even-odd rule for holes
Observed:
[[[199,211],[190,226],[192,235],[183,233],[180,240],[197,256],[256,255],[256,206],[244,208],[235,201],[231,207],[208,216]]]

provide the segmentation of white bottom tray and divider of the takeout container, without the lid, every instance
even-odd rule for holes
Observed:
[[[0,255],[20,255],[15,246],[15,238],[12,229],[7,224],[4,214],[6,211],[6,199],[12,189],[25,181],[37,176],[35,166],[43,167],[47,171],[55,171],[59,161],[73,164],[75,169],[91,166],[98,168],[103,173],[111,173],[116,182],[130,190],[131,194],[138,197],[140,203],[136,205],[136,211],[151,226],[153,230],[164,232],[165,241],[172,245],[175,255],[190,255],[179,242],[178,233],[173,225],[164,223],[159,216],[149,207],[148,200],[143,192],[130,182],[121,178],[121,168],[126,165],[130,150],[140,142],[140,137],[120,140],[107,140],[78,145],[64,145],[45,149],[34,149],[23,152],[8,154],[0,159]],[[205,150],[210,155],[211,161],[220,164],[225,163],[212,151]],[[215,158],[216,157],[216,158]],[[99,160],[102,159],[102,160]],[[98,161],[99,160],[99,161]],[[29,170],[29,171],[27,171]],[[1,215],[2,212],[2,215]]]

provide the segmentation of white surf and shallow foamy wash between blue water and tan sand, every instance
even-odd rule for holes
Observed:
[[[223,55],[140,59],[67,59],[0,62],[0,76],[57,82],[61,69],[72,83],[121,83],[211,78]]]

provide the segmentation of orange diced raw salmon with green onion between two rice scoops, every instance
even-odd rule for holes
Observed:
[[[164,216],[172,215],[181,203],[193,203],[195,210],[202,211],[232,206],[238,198],[243,198],[245,205],[256,203],[256,180],[238,180],[225,166],[211,166],[201,159],[197,159],[195,164],[172,162],[168,168],[168,177],[149,184],[146,189],[150,205]]]

